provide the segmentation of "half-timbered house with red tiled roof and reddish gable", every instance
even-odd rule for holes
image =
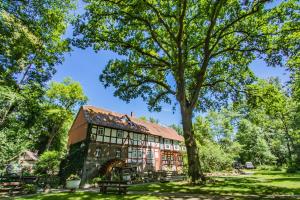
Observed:
[[[109,164],[122,161],[137,172],[182,170],[183,137],[174,129],[120,114],[83,106],[69,131],[68,146],[81,144],[86,153],[82,179],[97,176]],[[74,154],[75,155],[75,154]]]

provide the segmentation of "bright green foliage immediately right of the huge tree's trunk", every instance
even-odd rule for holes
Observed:
[[[196,117],[194,131],[204,171],[231,169],[233,162],[239,157],[241,145],[233,137],[235,118],[236,114],[227,109],[210,112],[205,117]]]

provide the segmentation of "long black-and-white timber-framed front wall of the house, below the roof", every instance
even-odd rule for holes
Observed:
[[[89,124],[85,144],[83,180],[97,176],[101,165],[115,158],[136,166],[140,173],[183,169],[185,147],[179,141]]]

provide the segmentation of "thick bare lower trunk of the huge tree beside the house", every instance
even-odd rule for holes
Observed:
[[[181,106],[181,117],[183,125],[183,136],[188,157],[188,175],[192,178],[193,183],[198,180],[205,181],[205,176],[201,169],[199,151],[193,131],[192,111],[187,109],[185,106]]]

